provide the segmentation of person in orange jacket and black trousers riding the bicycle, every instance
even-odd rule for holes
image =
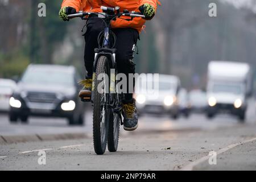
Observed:
[[[100,13],[102,12],[101,6],[119,6],[121,12],[123,10],[141,11],[146,20],[151,20],[156,13],[158,4],[160,3],[157,0],[64,0],[59,15],[61,19],[67,21],[69,20],[69,14],[75,14],[78,11]],[[121,18],[124,17],[121,16]],[[139,39],[139,33],[146,22],[145,19],[134,18],[131,21],[127,21],[118,18],[111,24],[112,31],[117,36],[115,44],[117,48],[117,71],[127,76],[127,83],[129,83],[129,73],[135,73],[134,49]],[[84,88],[80,91],[79,97],[90,97],[91,95],[94,48],[98,48],[97,38],[102,30],[104,30],[104,23],[101,19],[91,18],[86,22],[84,63],[87,74],[85,80],[81,81]],[[138,115],[133,93],[125,93],[125,99],[122,103],[123,128],[128,131],[137,129]]]

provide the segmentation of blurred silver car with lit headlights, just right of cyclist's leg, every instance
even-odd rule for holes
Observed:
[[[154,85],[153,91],[151,90]],[[171,75],[159,75],[158,80],[140,77],[135,85],[135,98],[139,114],[169,114],[179,116],[178,97],[180,79]],[[151,90],[151,91],[150,91]]]

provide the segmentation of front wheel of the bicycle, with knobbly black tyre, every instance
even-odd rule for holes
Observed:
[[[106,92],[109,86],[106,87],[106,84],[109,84],[109,72],[108,58],[101,56],[97,62],[93,90],[93,145],[98,155],[104,154],[108,142],[110,109],[109,94]],[[99,77],[102,80],[98,80]]]

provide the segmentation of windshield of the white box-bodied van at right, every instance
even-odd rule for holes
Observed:
[[[214,84],[213,85],[214,93],[233,93],[233,94],[241,94],[242,86],[241,85],[231,85],[231,84]]]

